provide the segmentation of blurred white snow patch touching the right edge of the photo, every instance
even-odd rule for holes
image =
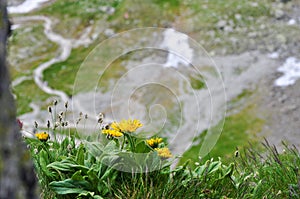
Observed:
[[[295,57],[289,57],[285,63],[280,66],[277,71],[282,72],[283,76],[275,80],[276,86],[289,86],[293,85],[298,79],[300,79],[300,60]]]

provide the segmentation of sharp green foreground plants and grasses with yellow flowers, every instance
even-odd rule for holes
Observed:
[[[279,154],[265,140],[264,155],[252,146],[236,151],[228,163],[219,158],[171,169],[163,139],[135,136],[142,126],[138,120],[114,122],[96,132],[96,139],[76,144],[72,135],[57,140],[62,128],[67,130],[65,113],[52,119],[52,140],[47,132],[26,138],[43,198],[300,197],[300,153],[287,145]]]

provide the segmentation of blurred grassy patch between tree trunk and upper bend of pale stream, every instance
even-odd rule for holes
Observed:
[[[44,35],[42,22],[28,23],[28,27],[13,31],[9,38],[9,63],[11,75],[15,79],[31,75],[41,63],[56,56],[58,46]]]

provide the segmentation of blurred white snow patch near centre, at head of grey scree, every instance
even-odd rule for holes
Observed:
[[[188,36],[183,33],[167,29],[161,47],[169,52],[165,67],[188,66],[192,62],[193,49],[189,46]]]

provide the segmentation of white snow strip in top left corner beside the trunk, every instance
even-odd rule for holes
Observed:
[[[28,13],[40,6],[40,4],[47,2],[49,0],[26,0],[20,5],[10,6],[7,8],[8,13],[10,14],[20,14],[20,13]]]

